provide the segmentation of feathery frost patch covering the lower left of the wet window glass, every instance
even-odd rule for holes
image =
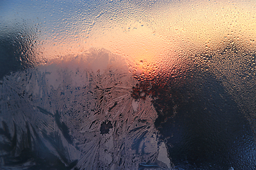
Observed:
[[[135,83],[125,60],[107,50],[4,77],[2,167],[137,169],[142,162],[170,167],[167,155],[158,157],[150,98],[135,101],[130,95]]]

